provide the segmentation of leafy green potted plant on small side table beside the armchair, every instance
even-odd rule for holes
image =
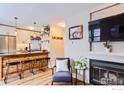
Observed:
[[[86,58],[75,61],[75,69],[86,69]]]

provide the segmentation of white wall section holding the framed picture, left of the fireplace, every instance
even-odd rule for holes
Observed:
[[[85,58],[88,55],[89,43],[88,43],[88,13],[80,13],[67,19],[65,27],[65,57],[78,60],[80,57]],[[83,39],[69,40],[69,27],[83,24]],[[87,63],[89,66],[89,63]],[[86,71],[86,82],[89,82],[89,68]],[[82,74],[82,72],[80,73]],[[81,78],[82,79],[82,78]]]

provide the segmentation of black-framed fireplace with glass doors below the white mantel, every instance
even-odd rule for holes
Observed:
[[[124,85],[124,63],[90,59],[90,83]]]

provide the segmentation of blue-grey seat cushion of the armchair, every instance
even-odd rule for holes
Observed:
[[[71,81],[71,79],[72,79],[71,73],[68,71],[55,72],[52,77],[52,81],[54,82],[67,82]]]

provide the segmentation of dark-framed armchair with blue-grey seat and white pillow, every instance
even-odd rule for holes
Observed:
[[[54,82],[70,82],[73,84],[69,58],[56,58],[52,73],[52,85]]]

